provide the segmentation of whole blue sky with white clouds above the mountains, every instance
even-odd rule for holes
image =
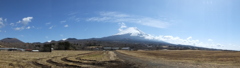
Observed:
[[[47,42],[123,33],[240,50],[239,0],[0,0],[0,39]]]

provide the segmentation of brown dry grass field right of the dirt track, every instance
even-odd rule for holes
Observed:
[[[119,51],[125,54],[145,58],[167,59],[181,62],[213,63],[240,66],[240,52],[231,51],[197,51],[197,50],[166,50],[166,51]]]

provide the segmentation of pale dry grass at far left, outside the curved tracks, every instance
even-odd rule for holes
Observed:
[[[34,67],[32,61],[41,58],[51,58],[54,56],[70,56],[82,53],[88,53],[91,51],[53,51],[53,52],[16,52],[16,51],[0,51],[0,68],[18,68],[18,67]],[[41,61],[38,61],[41,62]],[[48,64],[46,61],[42,61],[43,64]]]

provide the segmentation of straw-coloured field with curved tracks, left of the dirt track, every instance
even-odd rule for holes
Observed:
[[[111,68],[124,64],[112,51],[0,51],[0,68]]]

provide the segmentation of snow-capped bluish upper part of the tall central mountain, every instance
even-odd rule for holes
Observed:
[[[109,42],[173,45],[173,44],[161,41],[161,40],[147,39],[146,36],[149,36],[149,35],[140,31],[139,29],[137,29],[135,27],[132,27],[132,28],[122,30],[121,32],[117,33],[116,35],[103,37],[103,38],[94,38],[94,40],[109,41]]]

